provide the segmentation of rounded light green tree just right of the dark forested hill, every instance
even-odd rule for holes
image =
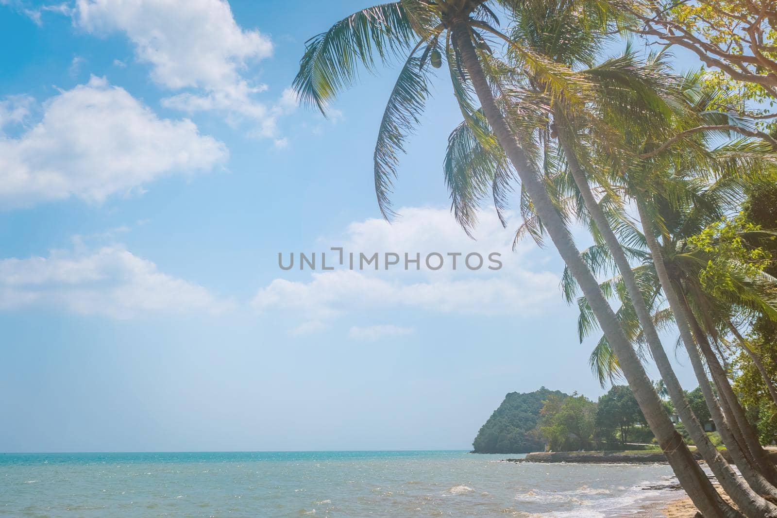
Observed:
[[[552,451],[588,450],[596,433],[596,403],[585,396],[553,395],[542,406],[539,433]]]

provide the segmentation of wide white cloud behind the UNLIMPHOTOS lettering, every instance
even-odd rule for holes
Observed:
[[[419,272],[402,267],[386,271],[383,266],[378,271],[316,271],[309,280],[273,280],[258,291],[253,307],[260,312],[282,311],[316,320],[375,308],[537,315],[559,297],[559,276],[532,264],[528,251],[533,245],[527,243],[511,252],[513,231],[503,229],[493,214],[481,214],[479,240],[472,241],[448,210],[411,207],[399,212],[402,217],[394,224],[378,219],[354,222],[341,238],[319,240],[326,242],[320,248],[326,251],[329,246],[342,245],[346,254],[367,255],[409,252],[414,256],[420,252],[422,258],[429,252],[462,252],[464,256],[478,252],[484,258],[499,252],[503,267],[470,271],[462,266],[464,256],[459,256],[455,271],[448,267],[430,271],[425,266]],[[284,264],[287,260],[285,256]],[[329,266],[336,263],[337,253],[329,252],[326,261]]]

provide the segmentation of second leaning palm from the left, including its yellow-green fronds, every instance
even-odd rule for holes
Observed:
[[[528,5],[526,7],[525,5]],[[530,9],[531,7],[535,9]],[[563,6],[566,7],[566,6]],[[522,97],[531,99],[531,102],[539,103],[541,106],[548,106],[548,117],[545,120],[545,130],[539,133],[545,150],[543,166],[545,167],[545,178],[552,181],[565,183],[566,190],[570,187],[576,188],[569,196],[562,192],[563,188],[553,189],[552,196],[556,206],[559,209],[568,207],[571,202],[577,203],[573,212],[577,215],[587,216],[586,223],[591,228],[594,238],[601,241],[602,249],[609,249],[611,257],[615,258],[616,269],[621,272],[622,280],[618,284],[624,288],[633,303],[624,304],[618,310],[616,316],[624,322],[623,311],[629,311],[632,317],[632,328],[624,329],[627,336],[639,332],[643,341],[650,349],[653,358],[659,368],[661,376],[667,381],[667,390],[671,395],[681,419],[685,423],[688,432],[697,443],[699,451],[707,463],[712,467],[716,477],[726,488],[726,492],[732,495],[740,509],[749,516],[777,516],[777,508],[772,506],[765,499],[761,499],[758,494],[748,488],[731,466],[726,462],[720,452],[704,433],[701,424],[693,414],[690,405],[688,405],[685,392],[682,390],[677,377],[674,375],[671,363],[664,351],[658,338],[657,330],[650,318],[650,311],[646,308],[644,297],[649,295],[650,291],[642,289],[639,280],[632,273],[627,252],[634,253],[633,249],[626,250],[625,246],[615,234],[613,223],[619,223],[620,231],[629,232],[634,235],[633,228],[629,224],[622,224],[622,203],[612,203],[619,200],[617,193],[611,186],[611,179],[601,174],[591,175],[594,182],[601,186],[604,196],[601,200],[594,197],[593,189],[588,184],[589,172],[606,172],[612,168],[606,165],[601,167],[587,166],[584,169],[584,162],[587,160],[587,148],[605,148],[607,155],[612,155],[612,151],[618,151],[618,141],[620,133],[630,128],[612,127],[604,122],[605,115],[611,115],[615,112],[619,117],[630,119],[632,126],[639,126],[643,130],[656,127],[656,122],[663,122],[665,113],[671,113],[678,107],[685,107],[689,115],[693,112],[690,106],[686,106],[681,97],[681,89],[672,89],[671,85],[678,84],[680,81],[670,75],[662,72],[663,65],[657,59],[651,60],[648,64],[639,65],[634,55],[626,51],[622,57],[613,58],[605,61],[598,66],[591,66],[593,50],[598,43],[596,35],[585,38],[579,36],[580,30],[577,30],[573,22],[573,12],[566,9],[552,9],[549,3],[539,2],[539,5],[532,5],[532,2],[524,2],[524,8],[518,12],[517,23],[514,30],[511,31],[511,40],[521,46],[521,54],[513,57],[516,67],[521,67],[522,81],[519,79],[519,85],[522,89]],[[570,23],[570,21],[572,23]],[[571,35],[571,36],[570,36]],[[574,47],[569,47],[566,43],[573,41]],[[562,42],[562,43],[559,43]],[[514,48],[514,47],[510,47]],[[533,59],[539,55],[553,62],[562,62],[573,66],[574,64],[586,65],[587,68],[577,70],[576,75],[580,78],[578,84],[584,85],[579,88],[574,85],[567,85],[565,89],[555,89],[552,81],[555,79],[550,75],[538,74],[531,66],[526,67],[527,60],[523,57],[526,49],[531,49],[534,54]],[[531,64],[531,63],[529,63]],[[570,76],[571,77],[571,76]],[[515,81],[515,78],[513,78]],[[664,99],[667,97],[669,100]],[[571,99],[571,100],[570,100]],[[580,103],[583,99],[586,102]],[[526,102],[523,103],[523,106]],[[576,106],[577,105],[577,106]],[[527,113],[528,110],[524,110]],[[658,112],[658,113],[656,113]],[[663,112],[663,113],[662,113]],[[654,114],[655,113],[655,114]],[[664,123],[653,130],[653,136],[658,137],[662,131],[667,131],[667,124]],[[618,131],[620,130],[620,131]],[[521,141],[531,139],[531,134],[520,135]],[[559,145],[552,144],[552,140],[557,139]],[[554,159],[553,154],[557,157]],[[627,153],[618,153],[618,158],[623,162],[624,159],[636,161],[636,156]],[[446,177],[451,189],[451,196],[454,202],[454,210],[460,221],[469,222],[469,214],[473,214],[473,206],[476,206],[478,195],[483,194],[485,189],[476,189],[482,185],[483,179],[493,176],[494,171],[499,171],[505,167],[506,158],[494,155],[490,150],[480,146],[466,121],[460,124],[451,134],[448,144],[448,156],[445,161]],[[566,170],[570,174],[557,174],[552,168],[559,164],[566,165]],[[588,164],[586,164],[588,165]],[[568,178],[572,179],[570,183]],[[461,179],[471,179],[469,182]],[[455,181],[451,181],[455,180]],[[615,182],[618,182],[618,178]],[[474,187],[473,187],[474,184]],[[498,200],[498,196],[495,196]],[[531,202],[524,203],[524,214],[528,213],[527,223],[521,229],[539,238],[544,231],[542,219],[534,214],[534,207]],[[607,214],[610,211],[610,214]],[[586,212],[586,214],[583,214]],[[620,212],[620,214],[618,214]],[[615,216],[615,217],[613,217]],[[640,235],[642,241],[644,238]],[[585,254],[584,261],[590,259]],[[567,273],[569,270],[567,269]],[[605,294],[608,294],[608,287],[603,286]],[[591,318],[594,317],[594,311],[588,308]],[[629,337],[631,338],[631,337]],[[603,354],[606,351],[607,354]],[[639,350],[638,350],[639,353]],[[605,359],[608,368],[617,363],[617,356],[609,346],[608,340],[603,338],[598,344],[598,354],[594,355],[596,360]],[[602,368],[601,370],[605,370]],[[601,371],[600,370],[600,371]],[[760,480],[756,477],[754,480],[754,489],[761,494],[770,494],[777,496],[777,489],[770,487],[768,481]]]

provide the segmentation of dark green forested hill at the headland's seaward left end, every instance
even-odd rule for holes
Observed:
[[[550,395],[566,398],[561,391],[542,387],[534,392],[510,392],[472,441],[476,454],[524,454],[542,451],[545,442],[535,434],[542,402]]]

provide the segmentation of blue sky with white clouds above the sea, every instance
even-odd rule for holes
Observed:
[[[329,120],[296,106],[305,40],[365,5],[0,0],[0,451],[463,449],[509,391],[602,393],[555,250],[449,214],[444,81],[393,225],[394,71]],[[504,267],[277,266],[332,246]]]

